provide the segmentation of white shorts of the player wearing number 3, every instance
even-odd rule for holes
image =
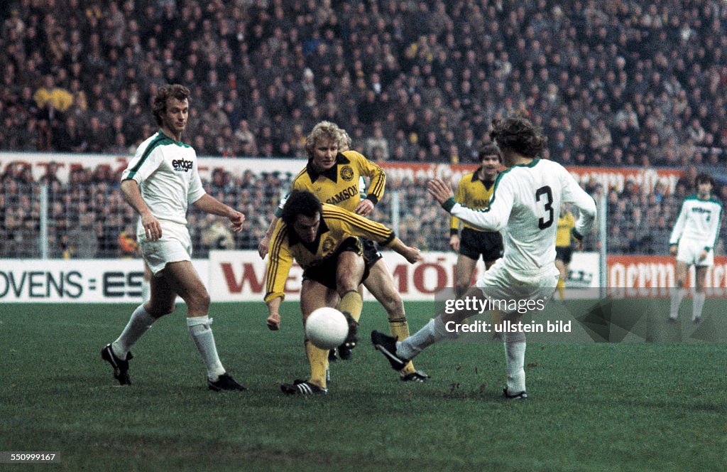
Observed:
[[[503,264],[503,259],[497,259],[475,282],[475,287],[491,300],[495,309],[508,315],[523,314],[524,307],[532,307],[528,311],[534,312],[545,307],[555,293],[560,275],[555,263],[552,268],[525,275],[511,272]],[[498,302],[495,303],[495,300]]]

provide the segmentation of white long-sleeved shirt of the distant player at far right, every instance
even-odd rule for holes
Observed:
[[[722,203],[714,197],[700,200],[696,194],[689,195],[682,203],[679,217],[672,229],[669,244],[678,244],[680,240],[699,247],[710,249],[715,247],[720,231]]]

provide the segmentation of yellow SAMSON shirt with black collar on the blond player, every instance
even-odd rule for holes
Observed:
[[[384,194],[386,173],[356,151],[338,153],[333,167],[320,173],[314,170],[308,162],[305,169],[295,177],[293,189],[308,190],[323,203],[336,205],[348,211],[356,211],[356,206],[361,202],[358,188],[361,176],[371,179],[366,198],[375,205]]]

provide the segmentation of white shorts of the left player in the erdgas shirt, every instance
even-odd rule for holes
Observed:
[[[137,232],[141,255],[153,275],[161,275],[169,262],[192,260],[192,239],[183,224],[160,221],[161,238],[156,241],[147,239],[143,232]],[[143,230],[143,229],[142,229]]]

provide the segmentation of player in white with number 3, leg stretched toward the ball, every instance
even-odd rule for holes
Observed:
[[[555,233],[561,203],[579,208],[573,234],[580,240],[593,225],[595,202],[562,165],[537,158],[547,138],[529,120],[497,119],[492,126],[491,141],[497,144],[507,170],[497,176],[489,208],[475,210],[460,205],[454,201],[451,185],[439,179],[429,182],[429,193],[452,216],[485,231],[499,231],[505,240],[502,259],[477,280],[465,298],[547,301],[553,296],[560,273],[555,267]],[[472,312],[466,310],[445,312],[402,342],[378,331],[371,333],[371,341],[396,369],[425,347],[457,337],[446,323],[459,324],[470,315]],[[512,323],[522,318],[517,311],[506,310],[505,315]],[[525,333],[505,332],[503,341],[507,363],[505,398],[527,398]]]

